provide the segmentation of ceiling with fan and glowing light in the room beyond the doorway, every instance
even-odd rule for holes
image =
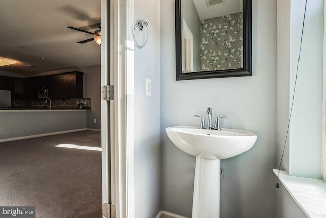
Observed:
[[[99,65],[100,46],[95,41],[77,43],[92,35],[67,27],[95,32],[100,11],[100,0],[2,1],[0,57],[17,63],[1,66],[0,75],[30,77]]]

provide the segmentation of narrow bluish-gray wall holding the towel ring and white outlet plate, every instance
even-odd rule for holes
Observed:
[[[153,218],[160,210],[160,10],[159,0],[134,2],[134,20],[149,23],[143,49],[134,49],[135,217]],[[147,30],[144,30],[147,31]],[[152,96],[145,95],[145,78]]]

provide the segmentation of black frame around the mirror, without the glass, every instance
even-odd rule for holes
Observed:
[[[181,0],[175,0],[176,80],[252,76],[251,0],[243,0],[243,68],[182,74]]]

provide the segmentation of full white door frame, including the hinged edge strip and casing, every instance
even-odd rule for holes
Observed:
[[[117,218],[135,216],[133,1],[101,0],[101,87],[114,85],[115,95],[101,101],[102,200]]]

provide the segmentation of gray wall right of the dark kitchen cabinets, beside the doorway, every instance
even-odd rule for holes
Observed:
[[[84,67],[82,71],[84,72],[84,98],[91,98],[92,108],[87,110],[87,128],[101,129],[101,65]]]

